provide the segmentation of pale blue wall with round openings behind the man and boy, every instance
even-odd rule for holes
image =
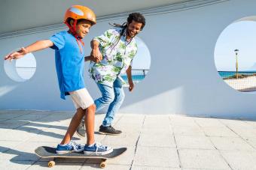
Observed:
[[[234,118],[256,118],[256,95],[230,88],[215,68],[214,49],[219,34],[236,19],[256,16],[256,1],[231,0],[190,10],[146,16],[139,37],[151,52],[151,70],[130,93],[120,112],[186,114]],[[84,40],[87,54],[93,36],[109,28],[99,22]],[[0,40],[0,56],[11,49],[50,37],[56,31]],[[61,100],[54,68],[53,50],[35,52],[37,70],[27,82],[13,82],[0,60],[0,109],[73,110],[72,101]],[[87,68],[86,68],[87,70]],[[85,77],[93,98],[99,97],[95,83]]]

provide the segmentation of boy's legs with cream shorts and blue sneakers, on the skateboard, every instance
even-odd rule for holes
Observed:
[[[75,107],[81,107],[83,111],[82,114],[78,112],[75,114],[74,118],[69,125],[68,132],[66,133],[66,138],[63,139],[63,142],[69,141],[72,139],[78,124],[81,122],[83,115],[85,116],[85,124],[87,126],[87,145],[82,147],[81,145],[75,144],[75,142],[70,141],[67,145],[58,145],[56,152],[58,154],[63,154],[72,151],[83,151],[84,154],[109,154],[113,151],[113,148],[101,145],[94,141],[94,119],[95,119],[95,110],[96,106],[93,104],[93,99],[90,97],[86,88],[82,88],[78,91],[72,91],[69,93],[72,97]],[[78,109],[80,111],[80,109]]]

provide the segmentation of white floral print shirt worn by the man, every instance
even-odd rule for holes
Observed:
[[[128,42],[125,37],[126,30],[120,37],[121,31],[122,28],[112,28],[93,38],[99,42],[99,50],[102,53],[102,61],[90,62],[89,73],[97,83],[113,87],[114,80],[120,73],[126,72],[136,55],[135,38]]]

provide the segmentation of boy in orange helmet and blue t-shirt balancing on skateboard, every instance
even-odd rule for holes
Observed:
[[[89,32],[91,25],[96,24],[96,16],[93,10],[81,5],[73,5],[66,10],[64,23],[69,31],[60,31],[49,40],[39,40],[26,48],[5,56],[5,60],[22,58],[29,52],[35,52],[50,47],[55,49],[56,73],[59,81],[60,96],[66,99],[71,95],[77,112],[75,113],[69,128],[57,145],[56,153],[81,152],[84,154],[109,154],[113,149],[103,146],[94,140],[94,118],[96,106],[92,97],[84,86],[84,43],[81,40]],[[78,145],[73,142],[72,136],[84,117],[87,129],[87,144]]]

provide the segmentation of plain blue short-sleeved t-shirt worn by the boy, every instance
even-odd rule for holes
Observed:
[[[59,81],[60,97],[66,99],[69,91],[84,88],[84,46],[67,31],[61,31],[49,38],[55,49],[56,73]]]

